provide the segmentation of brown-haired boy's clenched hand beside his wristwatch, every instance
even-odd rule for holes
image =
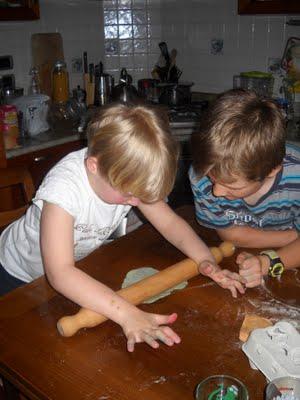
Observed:
[[[237,256],[236,263],[239,265],[240,276],[246,281],[246,287],[259,286],[263,282],[263,276],[268,273],[268,258],[265,256],[254,256],[245,251]]]

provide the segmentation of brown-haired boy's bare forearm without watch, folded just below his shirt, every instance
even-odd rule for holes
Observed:
[[[267,248],[282,247],[297,239],[296,230],[267,231],[251,228],[249,226],[232,226],[225,229],[217,229],[222,240],[228,240],[237,247]]]

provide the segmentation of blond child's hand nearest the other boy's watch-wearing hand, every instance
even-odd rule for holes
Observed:
[[[209,276],[222,288],[229,289],[233,297],[237,297],[237,291],[242,294],[245,293],[245,280],[236,272],[221,269],[218,265],[207,260],[200,263],[199,272],[202,275]]]

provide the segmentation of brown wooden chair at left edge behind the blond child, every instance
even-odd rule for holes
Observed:
[[[25,167],[0,168],[0,228],[25,213],[34,192],[31,175]]]

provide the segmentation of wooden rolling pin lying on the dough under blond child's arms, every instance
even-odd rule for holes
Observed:
[[[219,264],[223,257],[230,257],[234,253],[235,247],[230,242],[223,242],[219,247],[211,247],[210,251],[217,264]],[[198,265],[187,258],[159,271],[155,275],[121,289],[117,293],[129,303],[137,305],[198,274]],[[106,320],[107,317],[102,314],[81,308],[77,314],[60,318],[57,322],[57,329],[62,336],[69,337],[73,336],[81,328],[92,328]]]

